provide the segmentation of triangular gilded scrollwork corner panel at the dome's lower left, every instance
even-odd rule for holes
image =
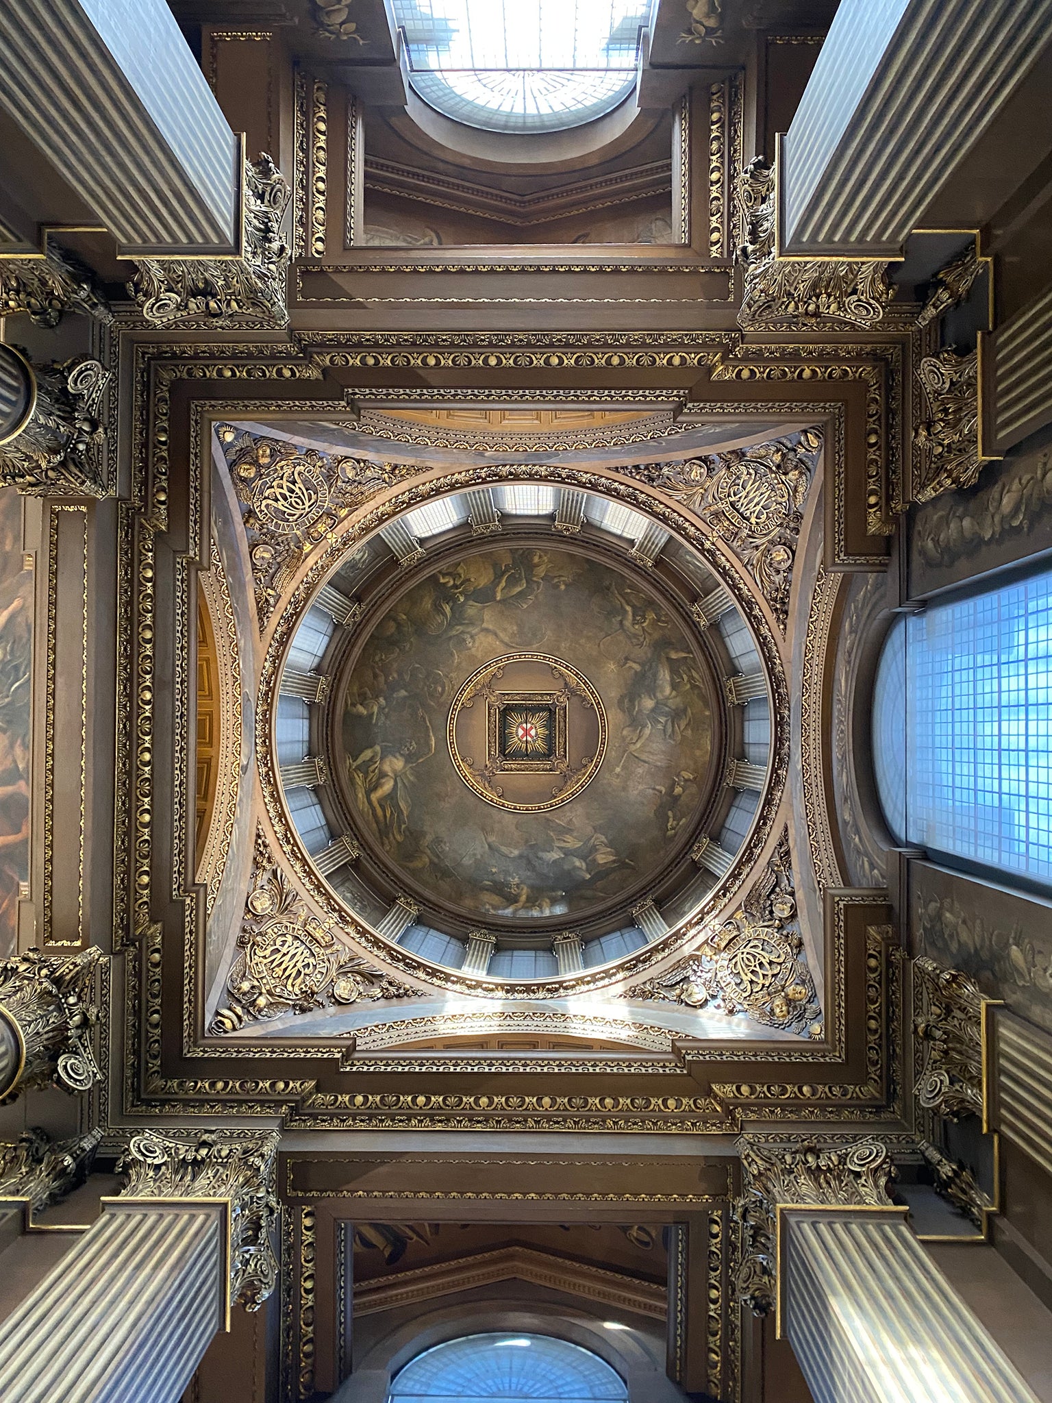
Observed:
[[[400,999],[412,992],[352,955],[331,923],[309,911],[274,861],[262,833],[257,833],[245,913],[226,989],[227,1003],[216,1012],[212,1034],[237,1033],[247,1023],[307,1013],[328,1002]]]

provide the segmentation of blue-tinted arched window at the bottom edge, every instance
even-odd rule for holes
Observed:
[[[547,1334],[468,1334],[425,1350],[398,1374],[389,1403],[626,1403],[599,1355]]]

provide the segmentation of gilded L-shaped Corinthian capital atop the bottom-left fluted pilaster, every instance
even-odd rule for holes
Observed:
[[[224,1198],[230,1202],[230,1299],[257,1310],[278,1281],[276,1131],[210,1131],[195,1138],[133,1135],[118,1164],[125,1198]]]

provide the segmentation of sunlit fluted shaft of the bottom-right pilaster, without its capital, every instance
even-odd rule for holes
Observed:
[[[892,1212],[783,1212],[783,1333],[815,1403],[1037,1403]]]

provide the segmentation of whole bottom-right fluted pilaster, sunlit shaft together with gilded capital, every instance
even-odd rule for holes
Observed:
[[[1035,1403],[891,1201],[879,1141],[743,1136],[738,1292],[777,1309],[815,1403]]]

